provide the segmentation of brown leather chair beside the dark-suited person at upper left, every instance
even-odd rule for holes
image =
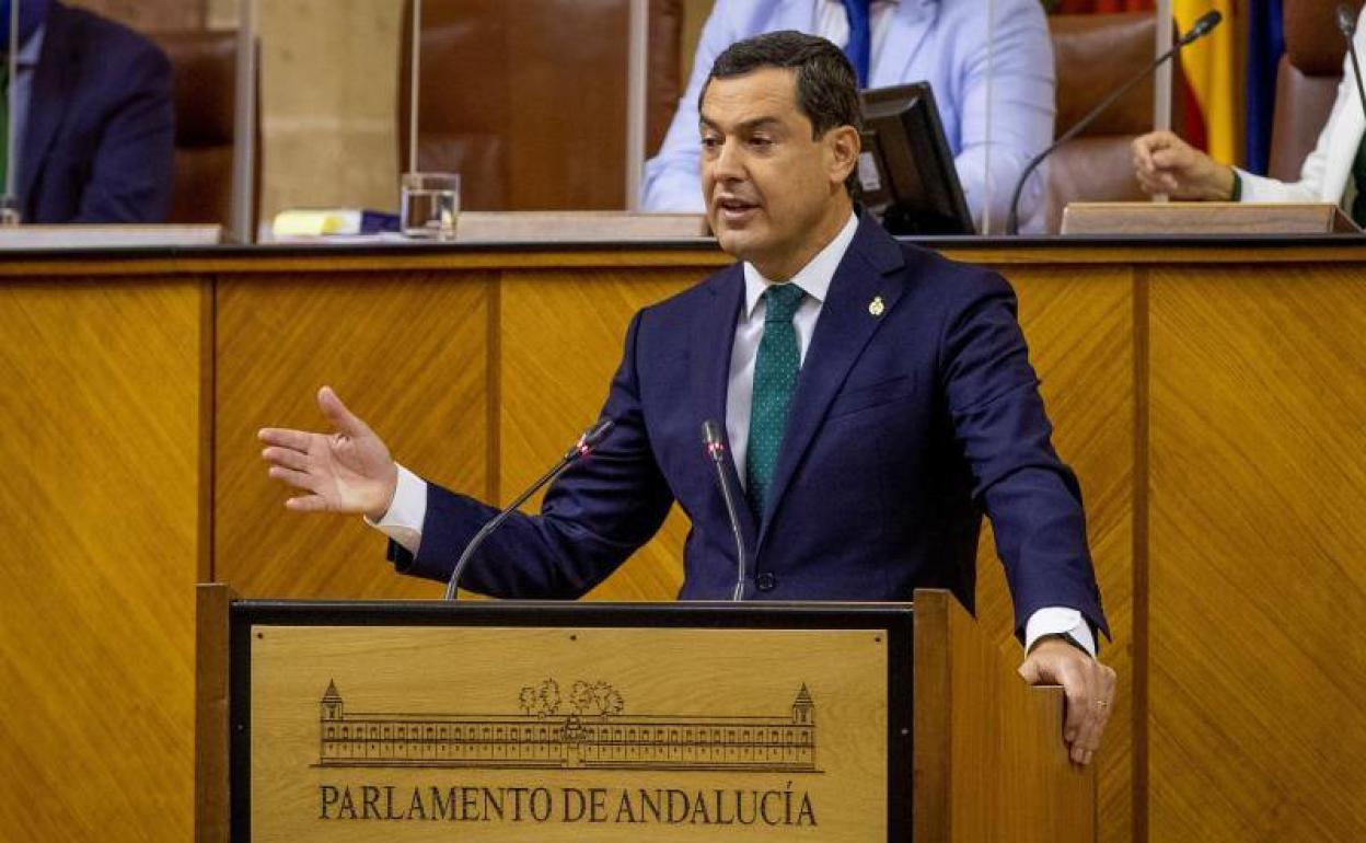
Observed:
[[[149,33],[171,60],[175,93],[175,186],[169,223],[232,223],[232,146],[236,138],[236,30]],[[255,197],[261,137],[257,120]],[[255,209],[251,227],[255,228]]]

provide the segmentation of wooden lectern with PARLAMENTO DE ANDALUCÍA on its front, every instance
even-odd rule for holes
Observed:
[[[911,604],[198,593],[195,827],[254,840],[1094,839],[1094,768]]]

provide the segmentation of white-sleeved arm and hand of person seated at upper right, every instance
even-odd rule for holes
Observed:
[[[1366,8],[1356,18],[1352,36],[1358,55],[1366,52],[1363,23]],[[1333,36],[1325,33],[1324,37]],[[1134,138],[1132,153],[1139,187],[1173,199],[1337,205],[1348,195],[1351,183],[1354,199],[1348,212],[1358,225],[1366,225],[1366,113],[1350,55],[1343,57],[1343,81],[1337,85],[1328,123],[1305,158],[1298,182],[1280,182],[1221,164],[1171,131]]]

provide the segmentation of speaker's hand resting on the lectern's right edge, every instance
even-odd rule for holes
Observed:
[[[1090,764],[1115,706],[1115,671],[1071,644],[1050,638],[1034,645],[1019,672],[1030,685],[1063,686],[1063,739],[1072,761]]]

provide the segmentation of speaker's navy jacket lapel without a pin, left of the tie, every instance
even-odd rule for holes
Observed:
[[[698,419],[698,455],[701,456],[701,422],[714,419],[721,424],[721,436],[725,439],[725,462],[721,466],[727,473],[731,489],[740,493],[740,477],[731,458],[731,437],[725,428],[725,398],[731,380],[731,348],[735,346],[735,325],[740,317],[740,307],[744,302],[744,276],[740,264],[732,264],[708,283],[712,294],[703,307],[693,320],[691,336],[688,337],[690,377],[693,388],[693,403],[702,410]],[[716,490],[720,495],[720,490]],[[754,516],[744,506],[743,496],[736,501],[736,515],[740,521],[740,533],[744,544],[753,551],[757,534]]]

